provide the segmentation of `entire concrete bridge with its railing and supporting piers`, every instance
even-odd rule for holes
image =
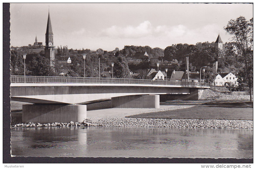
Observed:
[[[111,99],[118,108],[159,108],[159,100],[198,100],[208,83],[147,79],[11,76],[11,100],[23,105],[23,122],[81,122],[86,104]]]

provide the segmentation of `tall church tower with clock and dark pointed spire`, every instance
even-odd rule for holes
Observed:
[[[48,21],[45,33],[45,57],[50,60],[51,66],[53,66],[54,56],[54,45],[53,45],[53,30],[50,19],[50,12],[48,13]]]

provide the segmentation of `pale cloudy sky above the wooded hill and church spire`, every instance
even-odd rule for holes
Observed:
[[[252,4],[11,4],[11,46],[45,45],[48,8],[54,45],[112,51],[124,45],[165,49],[177,43],[229,42],[230,19],[253,17]]]

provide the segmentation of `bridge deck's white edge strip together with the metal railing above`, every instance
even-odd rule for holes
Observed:
[[[11,76],[12,86],[154,86],[210,88],[209,83],[99,77]]]

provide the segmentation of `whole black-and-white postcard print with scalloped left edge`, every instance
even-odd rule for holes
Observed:
[[[11,157],[253,159],[253,4],[10,3],[10,100]]]

